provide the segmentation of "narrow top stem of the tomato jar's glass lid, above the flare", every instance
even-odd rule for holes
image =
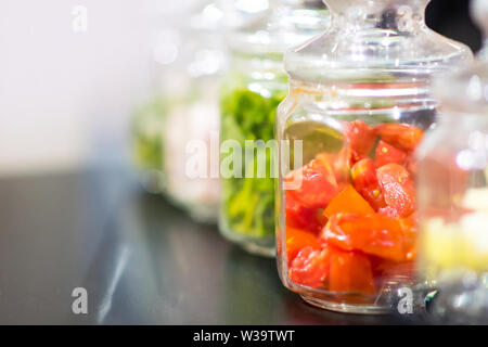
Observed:
[[[332,26],[343,30],[383,28],[413,31],[425,25],[425,9],[431,0],[324,0],[331,11]]]

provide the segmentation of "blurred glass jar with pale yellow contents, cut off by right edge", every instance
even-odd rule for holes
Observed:
[[[486,26],[488,0],[473,4]],[[442,117],[418,153],[419,270],[438,290],[434,318],[487,324],[488,61],[436,80],[434,94]]]

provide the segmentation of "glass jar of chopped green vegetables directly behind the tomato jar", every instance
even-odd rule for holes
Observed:
[[[269,4],[264,15],[229,36],[232,65],[220,102],[219,229],[228,240],[264,256],[275,254],[274,146],[269,141],[274,139],[275,111],[287,90],[283,52],[329,24],[329,12],[318,0],[271,0]],[[255,149],[265,153],[254,155]],[[235,160],[227,165],[230,159]]]

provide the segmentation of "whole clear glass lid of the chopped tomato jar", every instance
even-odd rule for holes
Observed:
[[[285,54],[298,79],[368,80],[422,76],[472,60],[471,50],[425,24],[429,0],[324,0],[331,26]]]

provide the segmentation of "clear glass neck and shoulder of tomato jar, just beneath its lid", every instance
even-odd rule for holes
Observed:
[[[408,123],[427,129],[437,102],[428,85],[408,79],[358,79],[312,83],[291,79],[290,94],[280,105],[278,130],[306,120],[326,124],[342,131],[344,121],[360,119],[369,125]]]

